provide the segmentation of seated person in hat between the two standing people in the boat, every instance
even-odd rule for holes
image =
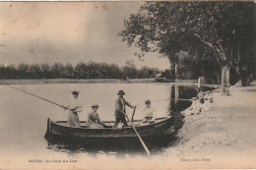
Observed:
[[[98,113],[96,112],[98,105],[94,104],[92,105],[92,108],[93,108],[93,111],[88,114],[87,127],[88,128],[104,128],[105,125],[99,119]]]

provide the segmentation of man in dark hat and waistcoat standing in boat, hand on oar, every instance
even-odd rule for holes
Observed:
[[[116,128],[117,125],[119,124],[119,122],[123,123],[123,127],[127,127],[127,122],[125,119],[126,116],[126,108],[125,106],[129,106],[131,108],[135,108],[135,106],[132,106],[130,103],[128,103],[124,98],[125,92],[123,90],[119,90],[119,92],[117,93],[117,95],[119,95],[119,97],[116,99],[115,101],[115,122],[114,122],[114,126],[113,128]]]

